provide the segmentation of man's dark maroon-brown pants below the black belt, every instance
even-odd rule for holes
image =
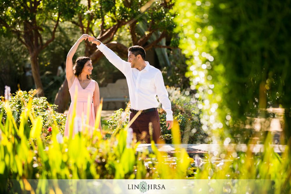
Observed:
[[[129,121],[132,120],[134,117],[134,113],[130,112],[129,115]],[[137,141],[141,141],[143,143],[142,138],[142,132],[146,132],[145,136],[145,142],[150,143],[150,133],[149,133],[149,123],[152,122],[152,140],[155,141],[155,143],[159,143],[159,138],[161,134],[161,127],[160,127],[160,118],[159,118],[159,112],[158,111],[151,111],[148,113],[141,113],[136,120],[132,123],[131,127],[133,129],[133,132],[136,133],[136,139]]]

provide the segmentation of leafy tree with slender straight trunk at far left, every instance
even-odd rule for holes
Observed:
[[[7,37],[16,36],[28,49],[38,97],[44,96],[38,54],[55,39],[59,22],[74,15],[74,3],[79,1],[19,0],[0,5],[0,33]],[[50,37],[44,40],[44,34],[50,34]]]

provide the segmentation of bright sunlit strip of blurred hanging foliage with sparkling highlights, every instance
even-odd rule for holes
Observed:
[[[223,44],[223,36],[220,41],[214,38],[215,26],[209,23],[213,6],[212,1],[177,1],[173,11],[179,15],[175,18],[175,31],[180,34],[179,47],[187,58],[185,76],[189,77],[195,97],[200,99],[202,128],[212,140],[219,142],[229,135],[225,129],[230,124],[226,120],[230,111],[223,104],[223,93],[228,90],[222,76],[225,69],[217,59],[217,47]]]

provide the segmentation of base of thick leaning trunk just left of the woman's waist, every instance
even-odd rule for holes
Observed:
[[[64,80],[63,84],[58,90],[58,93],[56,94],[54,104],[58,105],[58,111],[59,113],[64,113],[68,102],[70,100],[70,92],[69,92],[69,85],[67,79]]]

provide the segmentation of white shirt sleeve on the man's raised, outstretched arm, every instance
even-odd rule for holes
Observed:
[[[106,56],[110,63],[112,63],[118,70],[120,70],[126,76],[127,72],[129,72],[131,68],[130,63],[126,62],[125,60],[122,60],[103,43],[101,43],[99,46],[97,45],[97,48]]]

